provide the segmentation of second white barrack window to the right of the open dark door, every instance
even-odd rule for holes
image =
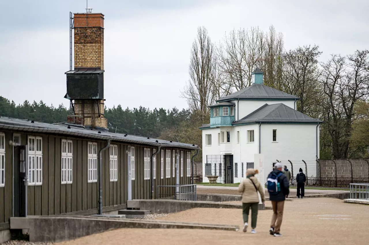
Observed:
[[[73,182],[73,141],[62,139],[61,184]]]

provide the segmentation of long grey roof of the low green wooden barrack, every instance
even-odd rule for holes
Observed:
[[[174,147],[195,150],[199,149],[197,145],[164,141],[162,139],[148,138],[144,136],[115,134],[110,132],[101,132],[84,127],[70,126],[65,124],[39,123],[30,120],[15,119],[9,117],[0,117],[0,129],[10,129],[25,132],[39,132],[49,134],[72,135],[91,139],[101,139],[125,143],[137,143],[151,146]]]

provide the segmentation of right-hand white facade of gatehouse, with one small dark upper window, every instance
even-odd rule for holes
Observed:
[[[317,124],[261,124],[261,153],[265,155],[265,177],[272,171],[273,162],[279,160],[291,170],[290,160],[293,164],[293,175],[303,169],[306,174],[306,161],[308,176],[316,176],[316,134]],[[277,129],[277,142],[273,142],[273,129]],[[319,150],[318,150],[319,158]],[[269,168],[269,170],[268,170]]]

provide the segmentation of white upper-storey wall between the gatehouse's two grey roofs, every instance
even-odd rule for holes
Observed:
[[[239,120],[241,118],[246,117],[248,114],[252,113],[256,109],[260,108],[265,104],[285,104],[286,106],[295,109],[295,101],[294,100],[239,100],[237,106],[237,100],[233,100],[236,103],[236,115],[235,120]],[[239,107],[239,111],[238,111]]]

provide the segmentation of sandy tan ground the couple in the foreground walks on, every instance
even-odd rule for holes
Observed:
[[[270,205],[266,202],[266,205]],[[240,209],[190,209],[158,220],[242,227]],[[119,229],[90,235],[62,244],[204,245],[204,244],[368,244],[367,205],[344,203],[332,198],[307,198],[286,202],[281,228],[283,237],[269,235],[272,210],[259,211],[257,234],[235,231],[186,229]]]

